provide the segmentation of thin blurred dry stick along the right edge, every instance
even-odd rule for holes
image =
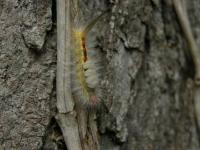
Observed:
[[[200,128],[200,49],[198,49],[197,43],[195,42],[194,36],[192,34],[192,29],[190,22],[187,17],[186,10],[183,10],[183,4],[181,0],[173,0],[174,8],[177,13],[180,25],[187,39],[188,45],[190,47],[190,52],[195,65],[195,89],[194,89],[194,103],[195,112],[198,122],[198,127]]]

